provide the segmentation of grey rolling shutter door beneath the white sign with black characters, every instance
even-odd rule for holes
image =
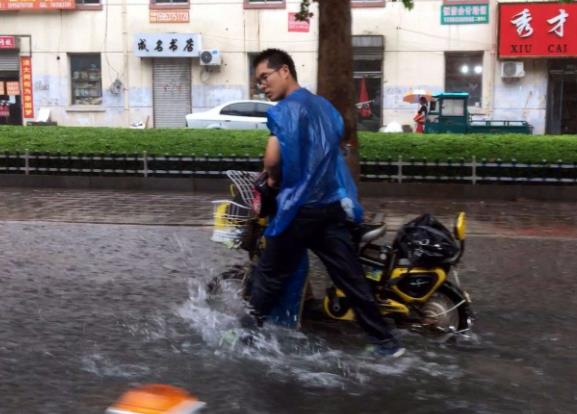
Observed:
[[[154,59],[152,88],[155,128],[184,128],[192,111],[191,59]]]

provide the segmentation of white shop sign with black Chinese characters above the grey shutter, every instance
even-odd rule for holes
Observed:
[[[137,33],[132,50],[138,57],[198,57],[199,33]]]

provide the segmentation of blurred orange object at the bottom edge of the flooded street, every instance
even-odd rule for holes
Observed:
[[[192,414],[205,405],[181,388],[148,384],[125,392],[106,414]]]

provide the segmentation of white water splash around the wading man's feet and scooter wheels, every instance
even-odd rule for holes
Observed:
[[[223,283],[215,298],[205,286],[209,280],[206,276],[216,276],[216,269],[203,268],[200,273],[205,278],[195,277],[190,281],[189,299],[178,307],[177,314],[213,349],[214,355],[258,362],[278,381],[297,380],[307,387],[345,390],[351,385],[366,384],[375,376],[427,373],[454,379],[462,375],[457,365],[431,361],[438,359],[431,355],[409,352],[400,359],[387,360],[365,354],[361,349],[335,349],[330,338],[274,325],[265,324],[256,333],[244,331],[238,323],[238,316],[245,312],[239,284]],[[230,332],[236,337],[250,335],[250,345],[223,340]]]

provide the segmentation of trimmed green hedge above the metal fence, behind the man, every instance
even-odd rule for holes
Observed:
[[[0,126],[0,152],[262,154],[266,131]],[[382,134],[360,132],[361,157],[577,162],[575,135]]]

